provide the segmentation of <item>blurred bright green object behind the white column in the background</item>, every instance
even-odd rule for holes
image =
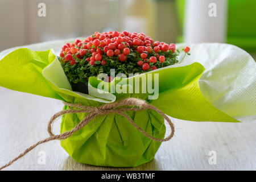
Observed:
[[[186,0],[176,0],[180,26],[183,30]],[[229,0],[226,43],[234,44],[246,51],[256,52],[256,1]],[[183,42],[179,36],[177,42]]]

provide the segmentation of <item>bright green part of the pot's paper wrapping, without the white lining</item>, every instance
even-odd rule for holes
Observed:
[[[156,100],[147,100],[149,94],[98,94],[97,86],[101,81],[95,77],[89,79],[90,95],[87,95],[71,90],[59,60],[51,50],[32,51],[19,48],[0,61],[0,86],[88,106],[136,97],[146,99],[174,118],[189,121],[239,122],[205,100],[199,88],[199,78],[203,72],[204,67],[199,63],[152,71],[151,73],[159,73],[159,97]],[[144,75],[150,79],[148,73]],[[142,75],[138,77],[140,76]],[[112,81],[109,86],[113,84],[118,82]],[[64,109],[73,108],[64,106]],[[156,138],[164,137],[166,128],[160,114],[153,110],[130,111],[127,114],[147,133]],[[85,115],[87,114],[64,115],[61,133],[72,130]],[[134,167],[152,160],[160,142],[145,137],[121,115],[108,114],[94,118],[71,137],[62,140],[61,146],[79,163]]]

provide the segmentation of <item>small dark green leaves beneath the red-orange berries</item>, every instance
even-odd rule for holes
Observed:
[[[103,50],[103,48],[102,48]],[[127,60],[121,62],[118,60],[118,56],[108,57],[105,54],[102,55],[102,60],[106,60],[105,65],[101,65],[101,61],[95,61],[95,65],[90,65],[86,62],[87,57],[91,57],[92,53],[87,52],[86,55],[82,56],[82,59],[79,59],[73,55],[73,58],[76,60],[76,64],[71,65],[70,61],[63,60],[62,57],[58,57],[60,63],[64,69],[65,75],[67,75],[68,80],[77,84],[78,82],[88,82],[89,77],[95,76],[97,77],[100,73],[106,73],[110,76],[110,69],[115,69],[115,76],[118,73],[124,73],[127,77],[129,73],[144,73],[152,71],[152,69],[148,69],[147,71],[143,71],[142,67],[138,65],[138,61],[143,60],[141,58],[141,54],[135,50],[135,47],[130,48],[131,52],[127,55]],[[154,50],[151,53],[144,51],[148,54],[148,57],[155,56]],[[79,53],[77,53],[79,54]],[[164,63],[160,63],[160,61],[156,61],[156,63],[148,63],[150,66],[155,66],[156,68],[163,68],[169,65],[173,65],[178,63],[177,53],[172,51],[159,51],[159,56],[166,57],[166,61]],[[145,62],[146,63],[146,62]]]

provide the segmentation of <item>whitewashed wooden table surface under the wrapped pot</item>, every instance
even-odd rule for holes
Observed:
[[[60,101],[0,87],[0,166],[48,137],[49,118]],[[94,167],[76,163],[59,141],[42,144],[4,170],[256,170],[256,122],[189,122],[174,119],[175,137],[164,142],[150,163],[135,168]],[[59,132],[60,119],[55,133]],[[43,151],[43,152],[42,152]],[[216,164],[209,164],[209,152]],[[46,154],[46,163],[40,163]],[[39,161],[39,162],[38,162]]]

